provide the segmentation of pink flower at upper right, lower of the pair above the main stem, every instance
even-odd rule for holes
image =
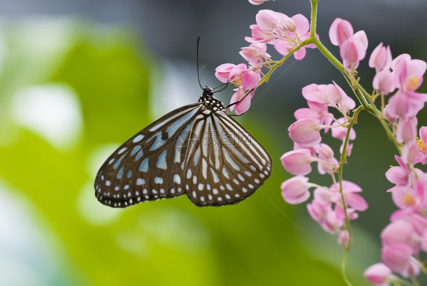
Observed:
[[[340,45],[340,56],[346,68],[355,70],[366,55],[368,39],[364,31],[356,32]]]

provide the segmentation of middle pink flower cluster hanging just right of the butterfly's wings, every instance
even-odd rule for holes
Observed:
[[[337,172],[339,161],[334,157],[332,148],[321,143],[320,131],[323,129],[326,133],[331,129],[332,137],[343,142],[341,145],[343,152],[344,143],[356,138],[352,128],[348,134],[347,119],[347,114],[356,103],[336,83],[311,84],[302,89],[302,95],[307,99],[309,108],[295,111],[294,116],[297,120],[288,128],[289,137],[294,142],[294,150],[286,152],[281,157],[285,170],[296,177],[283,182],[282,196],[288,203],[301,203],[310,197],[309,188],[316,188],[313,200],[307,204],[308,212],[325,231],[337,233],[339,242],[345,246],[349,241],[349,234],[343,229],[346,216],[349,219],[356,219],[356,211],[367,208],[366,201],[358,194],[361,191],[360,187],[348,181],[343,181],[341,186],[339,183],[334,183],[330,187],[318,186],[308,183],[308,178],[304,175],[311,172],[310,164],[317,162],[320,174],[330,174],[335,178],[334,173]],[[334,118],[328,110],[329,107],[339,110],[343,117]],[[345,150],[347,156],[351,155],[351,147],[352,144],[347,142]]]

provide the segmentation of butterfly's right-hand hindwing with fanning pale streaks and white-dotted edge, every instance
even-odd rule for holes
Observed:
[[[194,204],[237,203],[270,177],[272,162],[267,151],[224,111],[199,115],[192,130],[200,134],[200,146],[188,154],[183,176]]]

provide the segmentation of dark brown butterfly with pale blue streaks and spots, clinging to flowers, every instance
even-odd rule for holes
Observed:
[[[111,207],[187,194],[197,206],[237,203],[270,177],[267,151],[213,89],[123,143],[101,166],[95,195]]]

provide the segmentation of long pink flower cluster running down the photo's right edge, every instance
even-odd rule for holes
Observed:
[[[398,210],[390,216],[390,224],[381,232],[381,260],[365,270],[366,279],[374,285],[389,285],[397,273],[415,279],[420,270],[421,251],[427,252],[427,174],[415,168],[427,163],[427,127],[420,128],[417,137],[417,113],[424,107],[427,95],[415,92],[423,82],[427,64],[403,54],[392,60],[390,48],[379,44],[371,54],[369,66],[375,68],[373,87],[381,95],[397,89],[384,107],[402,156],[395,156],[399,166],[386,172],[387,179],[396,186],[389,189]]]

